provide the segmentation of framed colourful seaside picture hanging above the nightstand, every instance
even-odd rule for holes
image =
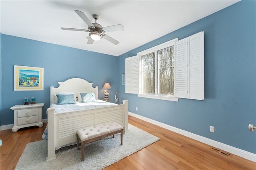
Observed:
[[[44,90],[44,68],[14,65],[14,91]]]

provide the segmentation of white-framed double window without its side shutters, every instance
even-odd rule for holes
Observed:
[[[178,101],[174,97],[174,42],[178,38],[138,53],[139,97]]]

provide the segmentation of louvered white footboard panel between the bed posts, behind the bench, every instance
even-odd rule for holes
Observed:
[[[55,147],[76,142],[76,131],[84,127],[106,122],[116,122],[124,126],[123,106],[55,114]]]

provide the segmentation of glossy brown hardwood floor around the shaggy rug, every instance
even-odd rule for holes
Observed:
[[[160,138],[159,141],[112,164],[104,170],[256,170],[256,162],[218,150],[207,144],[129,116],[128,123]],[[42,140],[42,128],[22,128],[13,133],[2,130],[0,169],[15,168],[26,144]],[[125,141],[124,141],[125,142]]]

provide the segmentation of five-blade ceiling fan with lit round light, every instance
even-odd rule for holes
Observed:
[[[89,18],[84,14],[84,12],[75,10],[76,14],[84,20],[84,22],[88,25],[88,30],[78,29],[78,28],[61,28],[62,30],[70,30],[70,31],[84,31],[90,32],[89,33],[89,40],[87,44],[92,44],[94,41],[98,41],[102,38],[108,40],[109,42],[117,45],[119,42],[114,38],[104,34],[105,32],[113,32],[113,31],[123,31],[124,27],[121,24],[114,25],[114,26],[107,26],[102,27],[100,24],[97,23],[97,20],[100,18],[97,14],[93,14],[92,17],[94,18],[95,22],[90,22]]]

